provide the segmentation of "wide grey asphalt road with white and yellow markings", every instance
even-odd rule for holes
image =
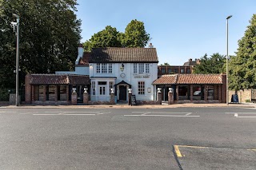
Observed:
[[[0,108],[0,169],[255,169],[255,136],[255,108]]]

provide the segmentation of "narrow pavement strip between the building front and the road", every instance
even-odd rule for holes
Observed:
[[[190,107],[239,107],[239,108],[256,108],[256,103],[208,103],[208,104],[174,104],[167,105],[162,103],[162,105],[127,105],[127,104],[116,104],[116,105],[5,105],[0,108],[10,108],[10,109],[168,109],[168,108],[190,108]]]

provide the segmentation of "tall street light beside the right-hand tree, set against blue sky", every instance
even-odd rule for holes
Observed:
[[[229,19],[232,15],[226,18],[226,105],[229,105],[229,69],[228,69],[228,61],[229,61]]]

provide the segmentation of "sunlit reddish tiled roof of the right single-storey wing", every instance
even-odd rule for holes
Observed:
[[[221,85],[221,74],[170,74],[162,75],[153,85]]]

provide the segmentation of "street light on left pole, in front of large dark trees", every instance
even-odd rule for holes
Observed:
[[[18,59],[19,59],[19,16],[18,14],[13,14],[13,16],[17,19],[17,22],[14,23],[12,22],[12,24],[14,24],[14,26],[16,25],[16,37],[17,37],[17,47],[16,47],[16,106],[18,106],[18,101],[19,101],[19,97],[18,97]]]

